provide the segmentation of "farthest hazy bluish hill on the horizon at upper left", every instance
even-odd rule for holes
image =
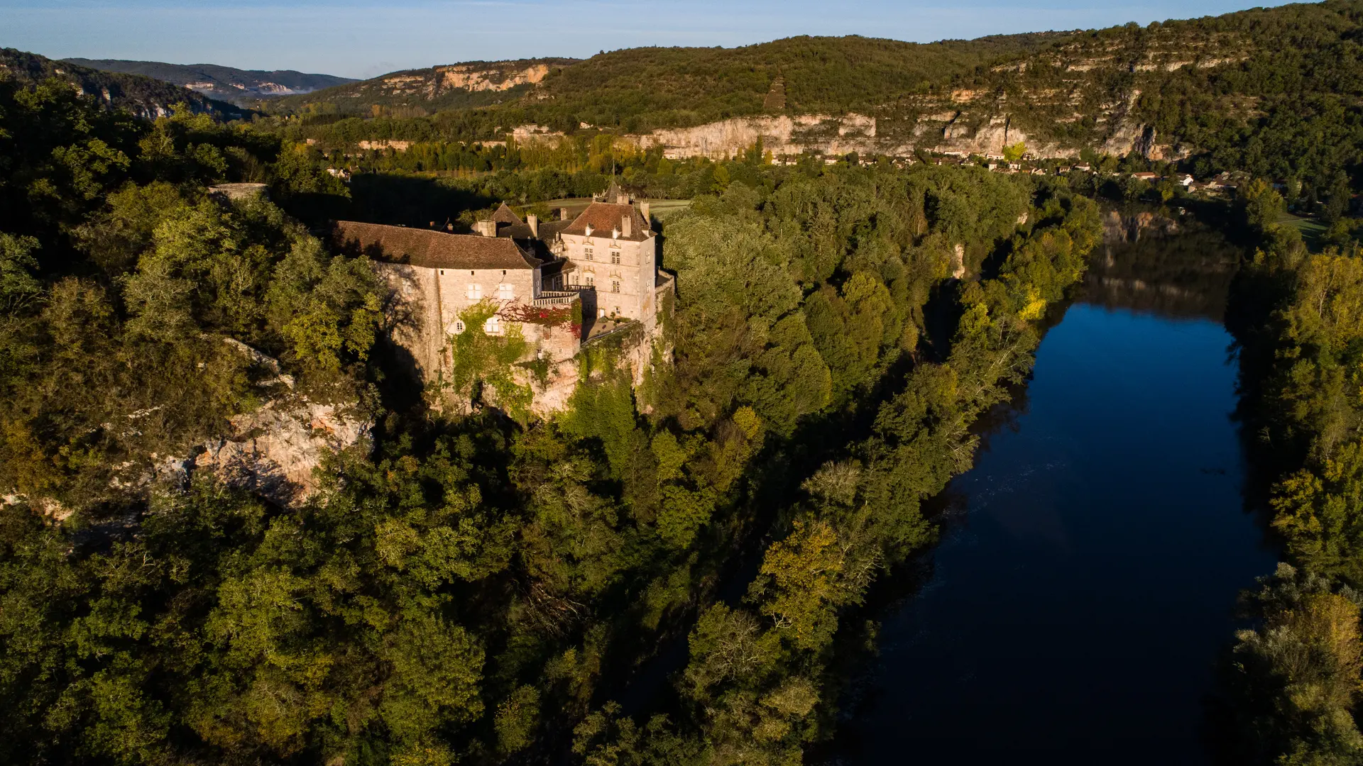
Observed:
[[[293,70],[239,70],[218,64],[166,64],[121,59],[63,59],[63,61],[106,72],[143,75],[224,101],[294,95],[357,82],[352,78]]]

